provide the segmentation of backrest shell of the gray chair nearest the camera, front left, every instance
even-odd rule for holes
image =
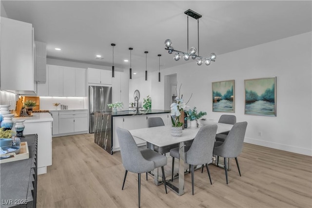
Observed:
[[[139,151],[136,141],[128,130],[117,128],[118,141],[123,167],[135,173],[154,169],[154,161],[146,160]]]

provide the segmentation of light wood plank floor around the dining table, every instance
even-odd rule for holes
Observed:
[[[124,168],[119,152],[110,155],[94,142],[94,134],[53,138],[53,165],[38,176],[39,208],[137,207],[137,174],[128,173],[121,190]],[[168,156],[166,170],[170,172]],[[229,184],[225,173],[210,165],[195,171],[195,194],[191,174],[185,175],[185,194],[156,186],[152,176],[141,179],[141,207],[207,208],[311,208],[312,157],[244,144],[238,157],[242,176],[231,159]],[[166,174],[167,175],[167,174]]]

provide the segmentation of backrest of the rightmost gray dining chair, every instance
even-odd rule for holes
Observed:
[[[235,123],[223,144],[217,147],[220,152],[218,156],[230,158],[237,157],[243,149],[246,128],[246,121]]]

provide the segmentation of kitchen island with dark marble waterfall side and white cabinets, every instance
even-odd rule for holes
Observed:
[[[133,130],[147,127],[149,117],[161,117],[165,125],[171,124],[170,111],[117,111],[116,113],[104,112],[95,113],[94,142],[105,151],[113,154],[119,151],[117,128]],[[145,145],[146,142],[135,138],[137,145]]]

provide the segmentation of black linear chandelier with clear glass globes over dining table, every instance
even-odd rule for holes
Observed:
[[[198,19],[201,18],[202,16],[192,11],[191,9],[188,9],[187,11],[185,11],[184,14],[187,15],[187,50],[188,52],[181,52],[181,51],[175,50],[172,47],[171,39],[165,40],[165,46],[166,46],[165,49],[168,50],[168,54],[172,54],[173,52],[176,52],[176,54],[174,55],[174,59],[176,61],[180,59],[180,54],[183,54],[183,59],[186,61],[189,60],[190,57],[192,57],[192,59],[194,60],[197,59],[197,65],[200,66],[204,62],[208,66],[210,65],[211,61],[215,61],[216,55],[215,53],[211,53],[209,58],[199,56],[199,21]],[[197,19],[197,49],[198,50],[196,50],[195,47],[192,47],[189,49],[189,16],[194,19]]]

